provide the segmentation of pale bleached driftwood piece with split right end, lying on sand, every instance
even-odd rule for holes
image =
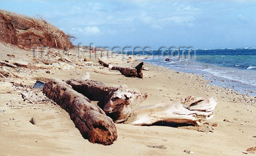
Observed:
[[[191,123],[201,126],[213,117],[216,98],[194,98],[188,96],[168,103],[159,103],[137,109],[125,122],[132,125],[152,125],[156,122]]]

